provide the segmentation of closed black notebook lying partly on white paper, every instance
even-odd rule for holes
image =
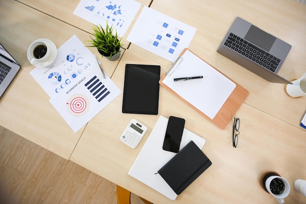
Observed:
[[[193,141],[190,141],[159,169],[158,173],[179,195],[210,165],[212,162]]]

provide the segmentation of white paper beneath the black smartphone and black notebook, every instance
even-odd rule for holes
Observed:
[[[129,175],[150,186],[170,200],[175,200],[177,195],[174,190],[159,174],[155,174],[176,154],[162,149],[167,124],[168,118],[160,115],[149,138],[132,165]],[[200,149],[205,144],[205,139],[184,129],[179,150],[185,147],[191,140]]]

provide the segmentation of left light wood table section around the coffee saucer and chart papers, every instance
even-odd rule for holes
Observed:
[[[74,133],[54,109],[47,93],[30,75],[35,67],[28,62],[26,50],[39,38],[50,39],[58,48],[73,35],[84,42],[88,33],[15,0],[0,1],[0,19],[0,42],[22,67],[1,96],[0,125],[69,159],[84,127]],[[101,56],[96,49],[89,50]],[[100,61],[109,76],[119,62]]]

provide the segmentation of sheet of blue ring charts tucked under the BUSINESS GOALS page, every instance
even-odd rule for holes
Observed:
[[[92,57],[89,49],[73,35],[65,44],[57,50],[55,61],[46,68],[34,68],[30,74],[52,97],[61,91],[69,89],[82,75],[91,71],[92,66],[88,65],[88,59]],[[96,68],[98,69],[98,68]]]

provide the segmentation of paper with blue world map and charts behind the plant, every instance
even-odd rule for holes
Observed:
[[[106,28],[106,22],[122,37],[135,18],[141,3],[135,0],[81,0],[73,14]],[[114,29],[114,34],[116,32]]]

